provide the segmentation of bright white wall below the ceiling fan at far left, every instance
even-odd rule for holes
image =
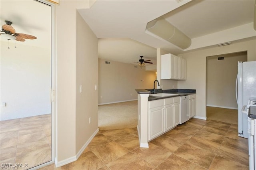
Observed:
[[[0,121],[50,114],[51,50],[0,45]]]

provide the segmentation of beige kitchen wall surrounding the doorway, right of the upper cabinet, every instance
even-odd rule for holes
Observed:
[[[206,57],[226,53],[247,51],[248,61],[256,60],[256,40],[231,43],[222,47],[212,47],[192,51],[178,56],[187,60],[187,79],[178,81],[180,89],[196,89],[196,116],[206,118]]]

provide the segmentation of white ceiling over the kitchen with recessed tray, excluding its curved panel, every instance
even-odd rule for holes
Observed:
[[[193,49],[216,45],[218,41],[200,42],[196,38],[253,22],[254,0],[96,0],[90,9],[78,10],[99,40],[99,57],[130,63],[140,55],[147,59],[156,58],[156,48],[161,47],[174,54],[186,51],[175,45],[145,33],[148,22],[163,16],[173,26],[192,38]],[[247,25],[244,26],[246,29]],[[221,37],[220,43],[256,37],[256,31],[249,27],[250,35],[239,38]],[[249,34],[249,33],[248,33]],[[103,38],[103,40],[101,39]],[[110,38],[110,39],[109,39]],[[120,41],[121,38],[126,38]],[[140,49],[140,45],[127,45],[128,39],[146,44],[152,48]],[[134,43],[136,43],[134,41]],[[232,41],[234,43],[234,41]],[[124,46],[122,46],[122,44]],[[106,45],[107,47],[103,47]],[[137,47],[137,48],[135,48]],[[149,52],[151,51],[151,52]]]

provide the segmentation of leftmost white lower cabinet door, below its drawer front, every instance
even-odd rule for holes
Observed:
[[[164,107],[149,109],[148,140],[164,132]]]

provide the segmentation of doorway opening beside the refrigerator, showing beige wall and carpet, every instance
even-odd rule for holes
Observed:
[[[238,61],[247,61],[247,51],[206,57],[207,119],[238,125]]]

